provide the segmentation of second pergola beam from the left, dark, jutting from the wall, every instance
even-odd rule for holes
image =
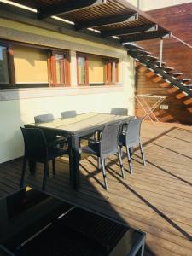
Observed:
[[[127,14],[127,15],[115,15],[112,17],[106,17],[96,20],[88,20],[84,23],[78,23],[75,28],[77,30],[89,28],[89,27],[96,27],[96,26],[106,26],[111,24],[116,24],[120,22],[128,22],[128,21],[136,21],[138,20],[137,13]]]

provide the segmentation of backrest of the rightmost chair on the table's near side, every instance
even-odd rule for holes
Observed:
[[[138,143],[140,138],[142,119],[130,119],[126,130],[126,144]]]

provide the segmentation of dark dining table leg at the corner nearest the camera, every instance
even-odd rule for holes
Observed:
[[[70,148],[70,178],[74,189],[79,189],[79,136],[72,135]]]

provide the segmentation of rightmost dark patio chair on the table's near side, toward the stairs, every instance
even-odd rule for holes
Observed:
[[[119,134],[119,147],[122,148],[123,146],[126,148],[126,154],[128,158],[128,164],[130,166],[130,172],[132,174],[132,164],[131,164],[131,151],[130,148],[133,148],[137,145],[139,145],[142,159],[143,159],[143,165],[146,165],[144,153],[143,153],[143,146],[140,138],[140,129],[141,129],[142,119],[130,119],[127,123],[127,129],[126,131],[122,131]]]

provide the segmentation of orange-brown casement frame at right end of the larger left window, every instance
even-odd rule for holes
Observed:
[[[64,55],[63,67],[64,68],[64,79],[63,83],[58,83],[56,80],[56,59],[55,55]],[[49,71],[49,86],[50,87],[68,87],[71,85],[70,82],[70,61],[69,52],[67,50],[51,50],[48,56],[48,71]]]

